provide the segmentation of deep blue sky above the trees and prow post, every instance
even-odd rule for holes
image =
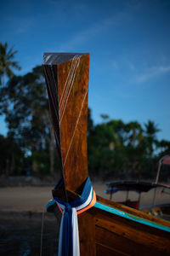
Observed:
[[[170,1],[1,1],[0,40],[19,52],[20,74],[43,52],[89,52],[89,107],[170,140]],[[19,74],[19,72],[17,72]],[[5,134],[3,118],[0,133]]]

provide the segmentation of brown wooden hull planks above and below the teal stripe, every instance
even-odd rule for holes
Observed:
[[[107,206],[113,207],[114,202],[108,204],[102,200]],[[146,218],[155,221],[158,224],[170,226],[167,221],[151,217],[137,210],[116,204],[115,209],[122,209],[124,212],[133,213],[133,216]],[[87,216],[86,216],[87,214]],[[90,216],[91,215],[91,216]],[[84,212],[84,217],[90,219],[90,223],[86,226],[79,221],[80,236],[84,236],[80,241],[83,256],[90,255],[170,255],[170,233],[159,230],[145,224],[139,224],[127,218],[117,216],[111,212],[97,209],[95,207]],[[91,230],[89,228],[91,227]],[[84,230],[88,229],[88,236],[84,234]],[[94,232],[95,230],[95,232]],[[95,236],[95,237],[94,237]],[[92,253],[88,247],[94,238],[95,253]]]

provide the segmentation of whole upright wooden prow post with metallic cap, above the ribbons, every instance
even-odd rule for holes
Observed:
[[[88,177],[89,54],[45,54],[43,67],[65,189],[79,192]]]

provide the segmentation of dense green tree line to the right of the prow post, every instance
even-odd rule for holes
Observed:
[[[156,163],[170,153],[170,142],[158,141],[159,130],[153,121],[144,127],[139,122],[125,124],[111,119],[90,125],[88,133],[88,166],[100,177],[154,178]]]

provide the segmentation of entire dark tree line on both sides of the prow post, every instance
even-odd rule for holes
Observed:
[[[13,61],[15,53],[0,44],[0,111],[8,125],[8,136],[0,136],[0,173],[53,175],[59,172],[59,161],[42,66],[15,76],[11,68],[20,68]],[[94,125],[88,109],[89,172],[102,178],[155,177],[157,160],[170,152],[170,142],[157,140],[157,125],[101,117],[103,122]]]

